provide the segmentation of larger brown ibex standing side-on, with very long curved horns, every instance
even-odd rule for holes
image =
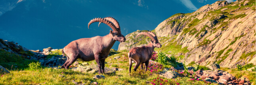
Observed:
[[[125,37],[121,34],[119,23],[114,18],[94,18],[90,20],[88,28],[93,22],[107,24],[113,31],[110,30],[110,33],[103,37],[82,38],[67,44],[62,51],[63,54],[67,55],[67,61],[62,65],[62,68],[68,69],[77,59],[82,61],[92,61],[95,59],[99,67],[99,73],[104,73],[105,59],[108,57],[115,41],[125,42]]]

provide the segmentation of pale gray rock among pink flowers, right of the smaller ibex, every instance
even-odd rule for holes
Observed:
[[[162,71],[160,72],[160,75],[159,76],[162,76],[164,78],[167,78],[167,79],[172,79],[172,78],[177,78],[178,76],[181,76],[179,73],[175,72],[175,71]]]

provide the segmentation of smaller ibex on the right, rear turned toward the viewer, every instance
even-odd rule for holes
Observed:
[[[143,63],[145,63],[145,65],[146,65],[145,70],[147,71],[148,63],[149,63],[150,58],[152,57],[152,52],[154,51],[154,48],[162,47],[162,45],[158,42],[158,39],[157,39],[155,33],[151,32],[151,31],[141,32],[136,36],[136,38],[139,35],[146,35],[146,36],[150,37],[150,39],[152,39],[152,41],[147,46],[135,47],[129,51],[129,53],[128,53],[129,64],[130,64],[129,73],[131,73],[132,61],[135,61],[135,63],[136,63],[134,71],[137,70],[139,65],[141,65],[141,69],[142,69]]]

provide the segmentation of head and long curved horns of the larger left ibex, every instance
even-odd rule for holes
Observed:
[[[107,24],[113,30],[113,31],[110,30],[110,33],[112,34],[113,39],[115,41],[125,42],[126,38],[121,34],[119,23],[117,22],[117,20],[115,20],[115,18],[112,18],[112,17],[94,18],[90,20],[88,24],[88,29],[90,24],[92,24],[93,22],[100,22],[100,23]],[[100,23],[98,26],[100,26]]]

